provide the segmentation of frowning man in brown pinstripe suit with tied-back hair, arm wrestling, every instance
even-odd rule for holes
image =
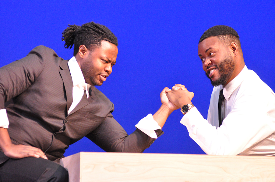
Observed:
[[[111,114],[113,103],[94,87],[102,85],[116,63],[115,35],[90,22],[70,25],[62,39],[65,48],[74,44],[70,60],[37,46],[0,69],[1,181],[68,181],[59,160],[84,136],[108,152],[143,152],[178,109],[165,88],[160,109],[128,135]]]

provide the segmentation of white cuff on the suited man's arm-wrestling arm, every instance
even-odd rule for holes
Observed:
[[[161,130],[161,127],[154,120],[152,114],[148,114],[145,118],[141,119],[139,123],[136,124],[136,128],[138,128],[151,138],[157,138],[155,130]]]

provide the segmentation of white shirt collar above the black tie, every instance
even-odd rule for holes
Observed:
[[[234,79],[232,79],[227,86],[224,87],[223,94],[226,100],[228,100],[231,94],[238,88],[239,85],[241,85],[242,81],[245,79],[247,71],[248,69],[245,65],[242,71]]]

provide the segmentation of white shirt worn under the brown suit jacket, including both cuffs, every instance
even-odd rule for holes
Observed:
[[[83,92],[86,91],[86,96],[89,98],[89,89],[90,86],[85,82],[84,76],[82,74],[82,71],[76,61],[75,57],[72,57],[69,62],[68,66],[70,69],[70,73],[72,76],[72,97],[73,102],[68,110],[68,114],[76,107],[76,105],[79,103],[83,96]],[[9,126],[9,120],[5,109],[0,110],[0,127],[8,128]],[[157,124],[157,122],[154,120],[152,114],[148,114],[146,117],[144,117],[142,120],[139,121],[139,123],[136,124],[136,128],[141,130],[143,133],[147,134],[151,138],[157,138],[157,134],[155,130],[161,129],[160,126]]]

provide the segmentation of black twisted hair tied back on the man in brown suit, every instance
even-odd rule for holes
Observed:
[[[118,46],[117,37],[104,25],[89,22],[81,26],[68,26],[69,27],[62,32],[62,41],[65,41],[64,47],[67,49],[71,49],[74,44],[74,56],[76,56],[80,45],[85,45],[90,51],[95,47],[100,47],[102,40]]]

